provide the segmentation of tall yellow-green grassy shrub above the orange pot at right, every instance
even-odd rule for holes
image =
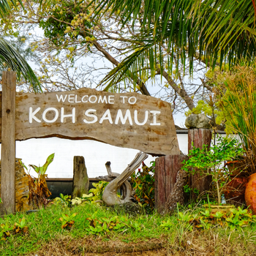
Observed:
[[[217,86],[227,132],[236,133],[245,150],[241,165],[256,173],[256,61],[240,62]]]

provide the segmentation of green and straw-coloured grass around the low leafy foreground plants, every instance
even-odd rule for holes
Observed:
[[[202,209],[183,209],[183,211],[192,214],[200,210]],[[78,213],[73,218],[75,224],[70,230],[61,229],[61,222],[58,219],[63,213],[69,216]],[[162,216],[155,213],[138,215],[138,217],[129,217],[124,213],[119,213],[119,219],[121,217],[127,219],[124,227],[119,230],[110,230],[108,233],[102,232],[93,235],[89,233],[90,222],[86,220],[92,214],[94,214],[95,219],[104,217],[110,219],[116,216],[115,212],[105,207],[86,204],[86,206],[72,208],[50,206],[41,208],[36,213],[17,213],[0,218],[0,223],[14,225],[24,216],[26,226],[29,227],[25,234],[12,234],[6,241],[0,241],[0,255],[30,255],[37,252],[41,253],[39,255],[48,255],[46,253],[47,249],[44,249],[45,246],[55,243],[54,247],[56,247],[61,241],[65,241],[67,248],[72,247],[72,249],[67,249],[69,250],[67,255],[72,255],[74,250],[84,250],[88,241],[93,241],[94,244],[99,243],[103,247],[106,243],[110,245],[112,243],[111,246],[114,247],[117,245],[124,246],[124,244],[144,243],[148,245],[153,241],[159,241],[168,252],[190,252],[190,250],[195,251],[196,247],[198,252],[206,253],[211,250],[214,252],[213,255],[256,254],[255,223],[233,230],[230,227],[219,225],[208,230],[197,230],[196,228],[189,228],[187,222],[178,221],[177,212],[171,216]],[[166,228],[162,227],[163,222],[169,222],[170,225]]]

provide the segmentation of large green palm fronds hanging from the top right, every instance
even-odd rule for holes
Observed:
[[[95,15],[107,12],[125,23],[140,23],[144,46],[135,47],[128,56],[102,80],[113,86],[122,75],[140,78],[140,69],[148,63],[153,72],[165,59],[172,68],[173,56],[192,73],[195,58],[214,68],[217,63],[231,67],[241,58],[256,55],[255,9],[252,0],[102,0]],[[167,45],[162,52],[161,45]],[[156,51],[157,50],[157,51]],[[134,73],[137,70],[137,75]]]

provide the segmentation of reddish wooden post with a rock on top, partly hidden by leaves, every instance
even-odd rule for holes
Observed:
[[[192,150],[192,143],[196,148],[203,148],[203,145],[211,146],[210,129],[189,129],[188,134],[189,150]],[[199,174],[190,176],[189,184],[192,189],[197,189],[200,193],[208,191],[211,184],[211,176],[202,178]]]

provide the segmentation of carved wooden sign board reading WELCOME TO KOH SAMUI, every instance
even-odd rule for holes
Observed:
[[[161,99],[79,89],[17,92],[15,104],[15,140],[92,139],[148,154],[179,154],[170,104]]]

